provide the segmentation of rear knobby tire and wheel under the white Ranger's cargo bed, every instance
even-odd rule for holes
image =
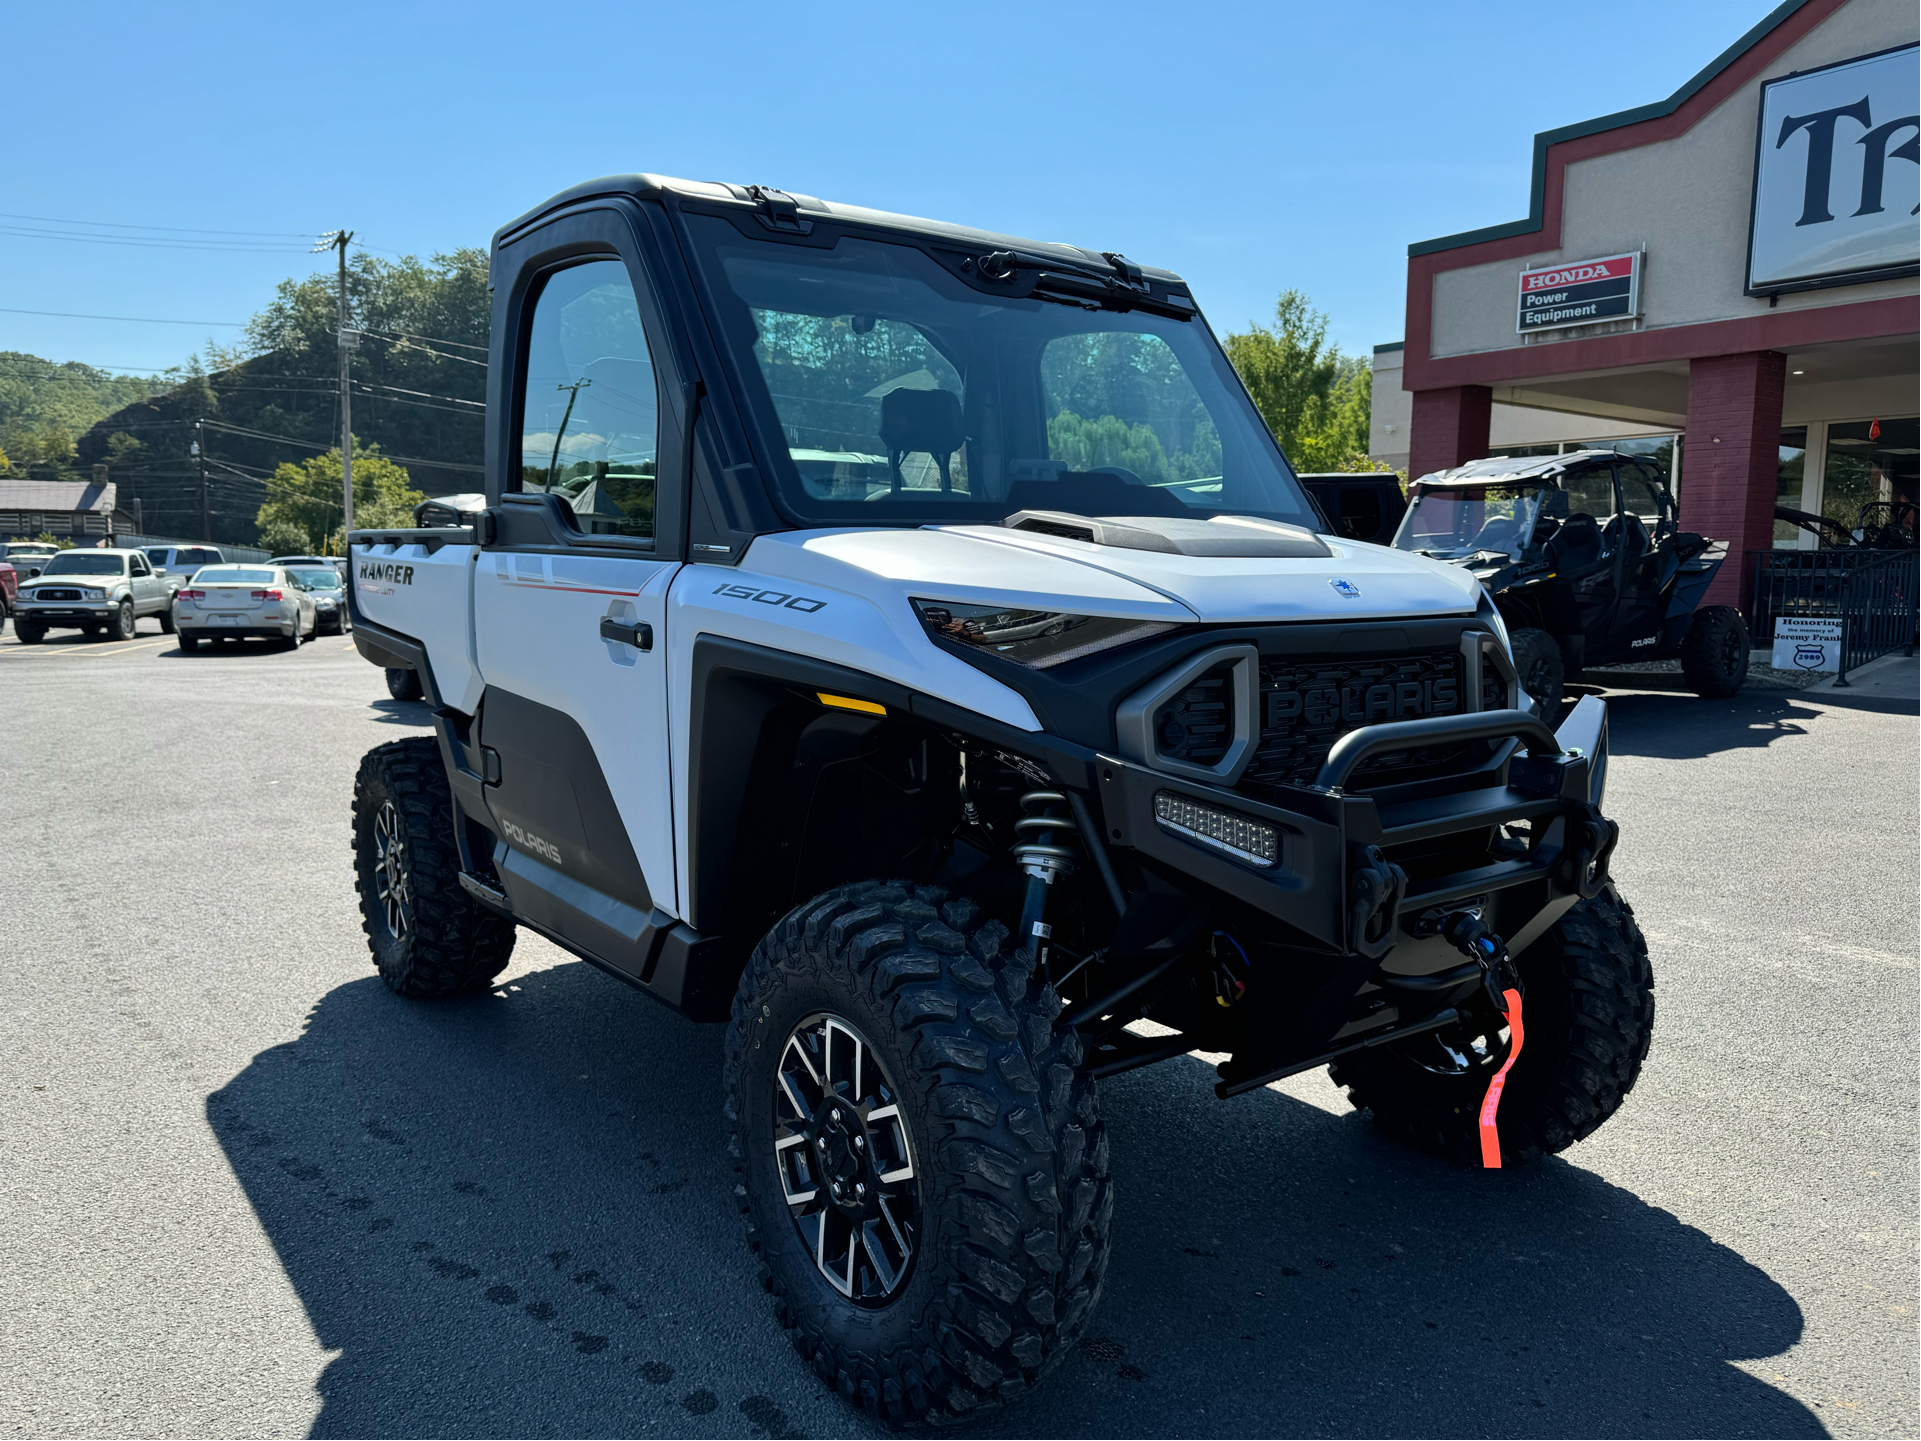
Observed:
[[[353,778],[353,890],[380,980],[400,995],[484,991],[513,922],[459,884],[453,795],[428,736],[375,745]]]

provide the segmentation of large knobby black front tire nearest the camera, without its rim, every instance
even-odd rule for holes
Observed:
[[[820,1378],[889,1424],[1022,1395],[1101,1295],[1114,1191],[1099,1097],[1080,1036],[1053,1024],[1060,997],[1009,951],[968,899],[863,882],[782,918],[734,997],[726,1116],[763,1283]],[[815,1264],[774,1159],[776,1074],[822,1013],[870,1043],[914,1157],[914,1257],[866,1308]]]

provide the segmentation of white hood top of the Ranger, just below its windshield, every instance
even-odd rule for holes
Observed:
[[[1322,536],[1327,557],[1247,559],[1124,550],[1005,526],[943,526],[941,534],[976,542],[984,557],[1012,550],[1049,569],[1070,561],[1128,580],[1208,624],[1464,615],[1481,598],[1479,582],[1456,565],[1337,536]]]

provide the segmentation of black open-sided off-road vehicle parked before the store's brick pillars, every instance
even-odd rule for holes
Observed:
[[[1479,578],[1521,688],[1550,719],[1589,667],[1679,657],[1696,696],[1733,696],[1748,678],[1740,611],[1700,607],[1727,542],[1677,526],[1650,461],[1581,450],[1435,471],[1408,486],[1395,546]]]

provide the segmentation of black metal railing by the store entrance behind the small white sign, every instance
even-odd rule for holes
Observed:
[[[1840,621],[1840,672],[1894,649],[1913,653],[1921,551],[1911,550],[1758,550],[1748,630],[1756,644],[1775,636],[1775,621]]]

